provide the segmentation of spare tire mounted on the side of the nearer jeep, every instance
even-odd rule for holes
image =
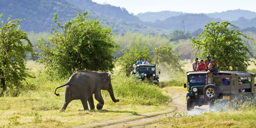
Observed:
[[[219,97],[219,90],[216,85],[208,84],[203,89],[203,95],[207,100],[217,99]]]

